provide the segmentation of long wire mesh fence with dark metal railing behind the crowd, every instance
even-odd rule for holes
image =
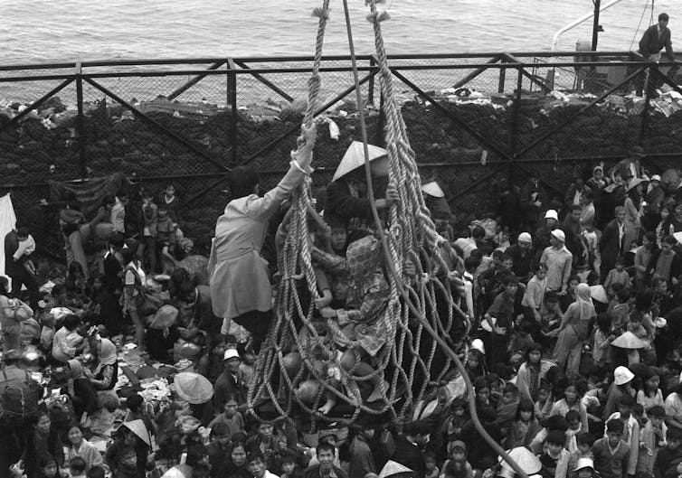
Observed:
[[[615,164],[633,145],[645,147],[657,172],[682,155],[676,65],[630,52],[581,54],[391,58],[422,173],[441,183],[457,220],[494,211],[498,192],[529,170],[560,195],[574,176]],[[383,145],[375,64],[358,59],[369,140]],[[311,65],[280,57],[0,67],[4,189],[44,232],[43,248],[60,255],[54,218],[36,207],[49,199],[48,182],[122,172],[154,192],[174,183],[187,209],[181,227],[201,243],[229,200],[232,167],[256,164],[263,189],[286,171]],[[326,58],[321,77],[320,204],[347,145],[361,137],[350,59]]]

